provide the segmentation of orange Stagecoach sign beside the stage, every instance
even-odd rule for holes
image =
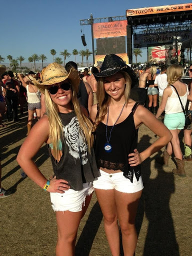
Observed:
[[[114,37],[126,35],[126,20],[94,23],[93,26],[93,38],[102,37]]]

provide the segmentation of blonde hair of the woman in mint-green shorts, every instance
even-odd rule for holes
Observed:
[[[172,64],[167,68],[166,74],[168,85],[171,85],[175,81],[180,80],[182,77],[182,66],[178,64]]]

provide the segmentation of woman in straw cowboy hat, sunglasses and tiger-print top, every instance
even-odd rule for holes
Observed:
[[[67,72],[54,62],[43,68],[40,76],[42,83],[33,83],[44,93],[46,112],[30,130],[17,161],[37,185],[50,192],[58,230],[56,255],[72,256],[78,225],[93,191],[92,181],[98,176],[90,140],[92,123],[76,97],[77,70]],[[50,180],[32,161],[44,142],[54,172]]]

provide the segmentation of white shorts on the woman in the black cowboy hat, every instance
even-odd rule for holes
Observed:
[[[123,172],[107,173],[99,169],[100,176],[93,181],[93,187],[97,189],[115,189],[124,193],[135,193],[143,189],[142,178],[136,180],[133,174],[133,181],[123,176]]]

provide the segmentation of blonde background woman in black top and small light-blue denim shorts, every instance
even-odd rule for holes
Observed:
[[[152,65],[150,67],[150,72],[147,76],[147,83],[148,83],[148,110],[156,114],[156,105],[157,105],[157,96],[158,96],[158,86],[154,86],[154,80],[156,77],[156,66]]]

